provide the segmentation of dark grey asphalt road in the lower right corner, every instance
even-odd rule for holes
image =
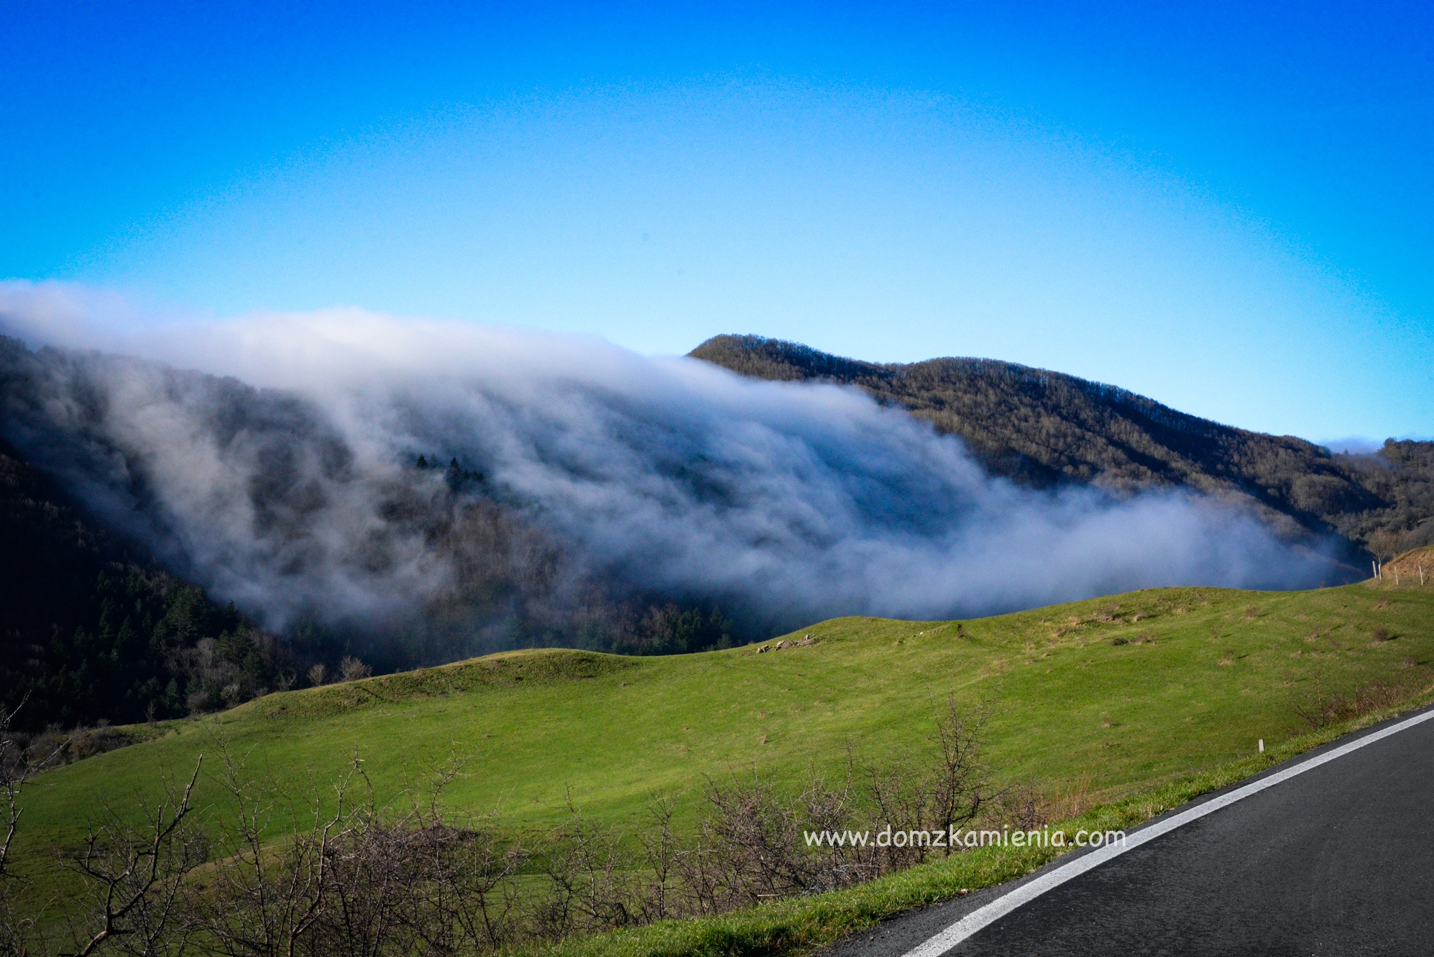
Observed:
[[[902,915],[826,953],[901,957],[1070,859],[1024,881]],[[1434,720],[1104,861],[945,954],[1428,957],[1434,954]]]

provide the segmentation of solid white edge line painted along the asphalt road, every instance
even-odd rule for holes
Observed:
[[[1407,717],[1397,725],[1390,725],[1382,730],[1377,730],[1372,735],[1365,735],[1364,737],[1352,740],[1348,745],[1341,745],[1339,748],[1335,748],[1322,755],[1311,758],[1309,760],[1301,762],[1293,768],[1286,768],[1285,770],[1276,772],[1269,778],[1262,778],[1256,782],[1245,785],[1243,788],[1236,788],[1229,793],[1220,795],[1219,798],[1206,801],[1205,803],[1190,808],[1189,811],[1182,811],[1180,814],[1172,815],[1164,821],[1150,825],[1149,828],[1143,828],[1141,831],[1136,831],[1134,834],[1127,835],[1124,845],[1108,845],[1091,851],[1084,857],[1076,858],[1070,864],[1064,864],[1055,868],[1054,871],[1043,874],[1030,884],[1022,884],[1010,894],[1004,894],[995,898],[989,904],[978,907],[977,910],[971,911],[969,914],[967,914],[959,921],[956,921],[946,930],[941,931],[931,940],[906,951],[905,957],[939,957],[941,954],[946,953],[948,950],[964,941],[967,937],[975,934],[982,927],[987,927],[988,924],[994,924],[995,921],[1001,920],[1021,904],[1025,904],[1027,901],[1034,901],[1041,894],[1060,887],[1061,884],[1074,877],[1080,877],[1081,874],[1094,867],[1100,867],[1101,864],[1114,857],[1120,857],[1121,854],[1130,851],[1131,848],[1139,848],[1141,844],[1146,844],[1147,841],[1154,841],[1162,834],[1174,831],[1176,828],[1190,824],[1192,821],[1196,821],[1199,818],[1203,818],[1207,814],[1215,814],[1220,808],[1228,808],[1236,801],[1249,798],[1250,795],[1259,793],[1266,788],[1273,788],[1282,781],[1289,781],[1295,775],[1302,775],[1306,770],[1314,770],[1319,765],[1326,765],[1335,758],[1344,758],[1352,750],[1358,750],[1365,745],[1372,745],[1377,740],[1388,737],[1390,735],[1397,735],[1401,730],[1405,730],[1407,727],[1414,727],[1415,725],[1420,725],[1427,720],[1434,720],[1434,710],[1424,712],[1423,715],[1415,715],[1414,717]]]

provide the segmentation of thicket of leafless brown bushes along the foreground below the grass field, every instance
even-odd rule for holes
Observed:
[[[652,802],[635,839],[569,801],[569,819],[528,845],[490,818],[442,811],[459,763],[380,803],[354,759],[331,789],[295,799],[251,779],[217,733],[211,765],[229,812],[214,839],[191,826],[194,779],[146,828],[95,829],[70,859],[93,904],[73,954],[482,954],[850,887],[938,851],[813,842],[809,832],[1040,824],[1034,789],[989,783],[989,713],[948,702],[929,760],[876,768],[849,758],[845,775],[813,772],[796,795],[756,775],[710,779],[685,841],[671,799]]]

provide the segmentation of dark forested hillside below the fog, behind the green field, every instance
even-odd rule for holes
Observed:
[[[0,707],[24,702],[16,727],[29,730],[133,723],[225,709],[373,666],[391,671],[450,660],[453,649],[467,649],[450,631],[472,627],[483,610],[479,593],[523,584],[509,581],[512,561],[498,541],[522,528],[489,501],[463,514],[467,521],[446,531],[466,560],[467,588],[447,607],[381,637],[307,621],[274,636],[119,539],[0,442]],[[533,607],[545,598],[531,597]],[[720,610],[661,598],[614,600],[591,588],[581,614],[543,610],[519,621],[502,647],[671,654],[734,643]],[[424,647],[439,638],[450,647]]]

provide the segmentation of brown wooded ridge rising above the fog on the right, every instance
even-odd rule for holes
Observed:
[[[690,354],[757,379],[858,386],[961,436],[992,472],[1027,485],[1184,485],[1249,504],[1286,534],[1334,532],[1381,555],[1434,542],[1434,442],[1331,455],[992,359],[876,364],[761,336],[714,336]]]

